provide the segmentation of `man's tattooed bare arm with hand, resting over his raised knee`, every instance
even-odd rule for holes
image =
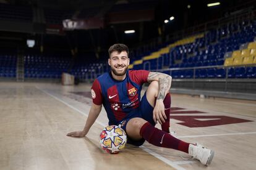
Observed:
[[[164,113],[163,100],[171,88],[171,80],[172,77],[164,73],[150,72],[148,74],[148,83],[151,83],[152,81],[158,81],[159,85],[158,96],[156,98],[156,105],[153,110],[153,119],[155,123],[157,123],[157,121],[160,124],[165,122],[164,119],[166,119],[166,115]]]

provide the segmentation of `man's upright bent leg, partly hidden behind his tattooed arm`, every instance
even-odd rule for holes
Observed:
[[[159,86],[158,81],[153,81],[150,83],[150,86],[148,86],[147,89],[147,100],[148,103],[150,103],[151,107],[155,107],[155,100],[158,96]],[[169,127],[170,127],[170,111],[171,111],[171,95],[168,93],[166,94],[166,97],[163,100],[164,103],[164,113],[166,115],[166,120],[163,124],[161,124],[161,128],[164,132],[169,133]]]

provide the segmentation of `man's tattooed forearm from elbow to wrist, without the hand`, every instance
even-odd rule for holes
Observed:
[[[164,99],[165,95],[169,92],[169,89],[171,87],[171,77],[164,76],[163,78],[159,78],[158,84],[159,84],[159,93],[158,93],[157,100]]]

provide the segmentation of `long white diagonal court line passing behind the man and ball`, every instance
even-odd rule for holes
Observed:
[[[52,95],[52,94],[49,94],[48,92],[46,92],[45,90],[43,89],[40,89],[36,86],[36,88],[42,92],[45,92],[46,94],[50,95],[51,97],[53,97],[54,99],[58,100],[59,102],[62,102],[64,103],[65,105],[67,105],[68,107],[70,108],[73,108],[75,111],[78,111],[80,114],[82,115],[85,115],[88,117],[88,115],[86,113],[83,113],[83,111],[80,111],[79,109],[73,107],[72,105],[69,105],[69,103],[66,103],[64,102],[63,100],[59,99],[58,97]],[[100,124],[101,126],[103,127],[106,127],[107,125],[104,124],[104,123],[101,123],[100,121],[95,121],[96,123]],[[164,158],[163,156],[159,155],[158,153],[155,153],[153,152],[152,150],[150,150],[149,148],[146,148],[144,146],[141,146],[140,148],[142,148],[145,152],[149,153],[150,155],[153,155],[155,156],[156,158],[158,158],[159,160],[163,161],[164,163],[168,164],[169,166],[175,168],[175,169],[178,169],[178,170],[184,170],[184,168],[182,168],[181,166],[179,166],[178,164],[174,163],[174,161],[171,161],[171,160],[168,160],[166,158]]]

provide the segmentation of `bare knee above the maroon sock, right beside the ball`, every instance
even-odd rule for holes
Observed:
[[[134,140],[142,139],[142,137],[140,136],[140,129],[145,123],[147,123],[147,121],[145,121],[145,119],[142,118],[130,119],[126,125],[127,135]]]

